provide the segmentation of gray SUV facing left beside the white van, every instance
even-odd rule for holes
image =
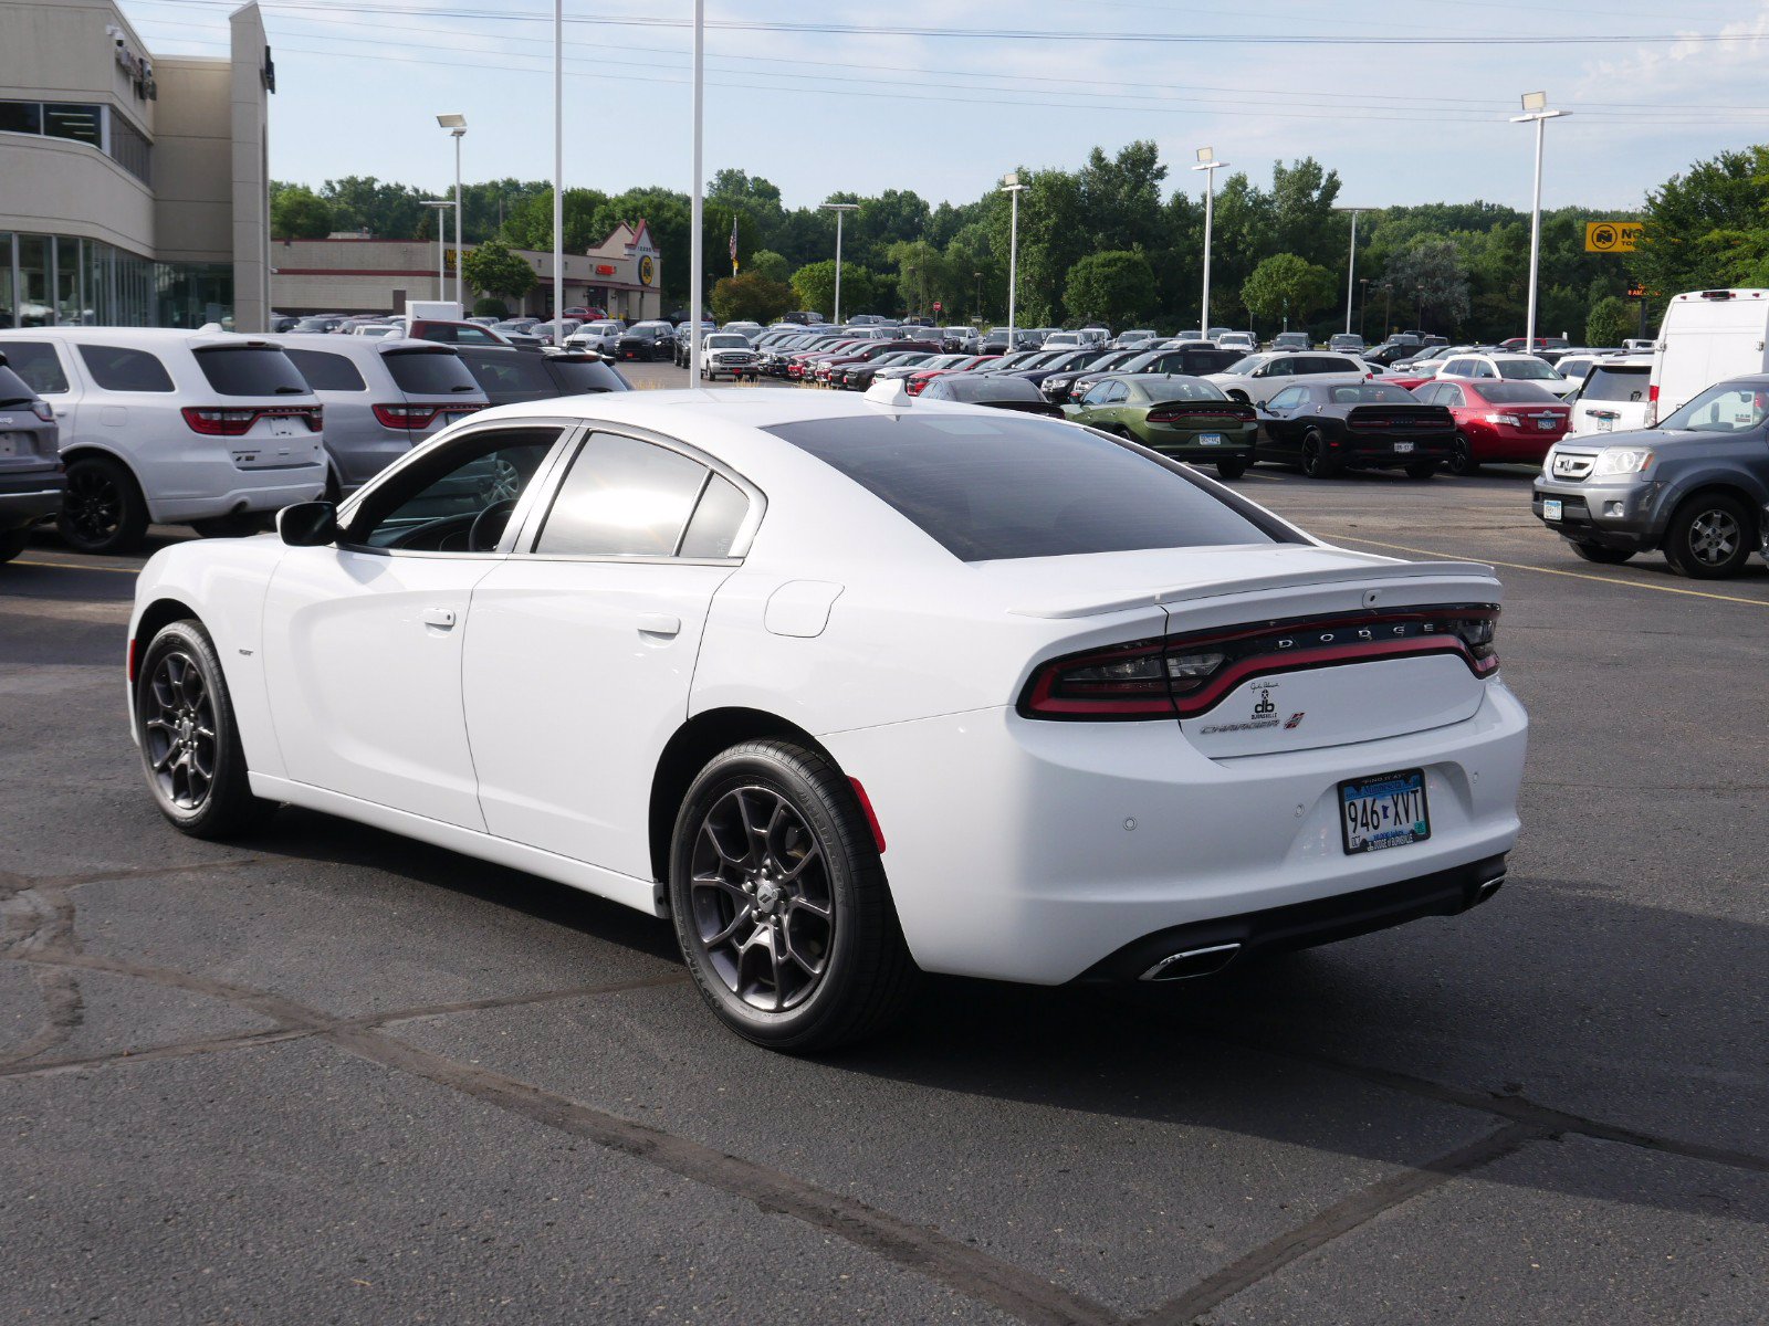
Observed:
[[[1555,442],[1530,506],[1587,562],[1661,548],[1698,580],[1734,576],[1769,502],[1769,375],[1719,382],[1658,428]]]

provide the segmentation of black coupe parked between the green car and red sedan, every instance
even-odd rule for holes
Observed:
[[[1456,419],[1387,382],[1309,382],[1260,408],[1252,460],[1300,465],[1311,479],[1346,469],[1429,479],[1456,444]]]

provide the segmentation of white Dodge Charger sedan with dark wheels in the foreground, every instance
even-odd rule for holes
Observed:
[[[1076,424],[547,400],[278,527],[142,573],[166,819],[308,806],[670,918],[777,1048],[918,971],[1169,981],[1461,912],[1516,842],[1488,568],[1325,546]]]

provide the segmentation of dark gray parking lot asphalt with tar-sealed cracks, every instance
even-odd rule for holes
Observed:
[[[1498,566],[1504,891],[1159,999],[936,979],[812,1061],[612,903],[308,812],[172,833],[140,559],[41,537],[0,568],[0,1317],[1760,1322],[1769,569],[1587,566],[1523,470],[1235,486]]]

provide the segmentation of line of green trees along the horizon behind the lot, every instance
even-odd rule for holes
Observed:
[[[1748,161],[1728,157],[1696,171],[1704,180],[1716,175],[1727,189],[1760,193],[1760,177],[1769,171],[1762,152],[1751,157],[1755,186],[1739,179],[1741,171],[1748,175]],[[1164,196],[1168,166],[1155,143],[1132,141],[1116,154],[1093,149],[1077,170],[1022,168],[1019,177],[1028,186],[1019,200],[1021,325],[1097,320],[1118,329],[1176,331],[1198,324],[1203,198],[1191,191]],[[1666,242],[1650,239],[1654,230],[1682,233],[1696,225],[1700,205],[1686,202],[1689,187],[1673,180],[1649,198],[1649,242],[1638,255],[1587,253],[1583,239],[1587,221],[1642,219],[1640,212],[1544,212],[1537,329],[1585,339],[1592,315],[1601,311],[1608,318],[1604,341],[1613,343],[1619,334],[1633,334],[1636,308],[1624,299],[1631,285],[1647,279],[1689,288],[1668,276]],[[272,230],[278,237],[366,232],[425,239],[435,233],[435,217],[423,207],[426,196],[407,184],[364,177],[325,180],[317,189],[272,184]],[[973,202],[938,205],[909,189],[835,193],[828,202],[858,205],[842,228],[844,313],[1005,320],[1010,205],[999,189],[991,186]],[[665,255],[665,302],[685,306],[688,209],[686,193],[658,186],[616,194],[568,189],[564,244],[582,253],[621,221],[644,217]],[[1212,324],[1261,336],[1286,327],[1316,336],[1343,329],[1352,217],[1339,210],[1337,171],[1313,157],[1274,163],[1267,180],[1237,171],[1221,182],[1214,210]],[[736,279],[729,263],[732,226]],[[515,179],[465,186],[463,230],[469,242],[552,248],[550,186]],[[1737,244],[1716,239],[1696,249],[1696,265],[1718,271]],[[785,207],[780,189],[759,175],[727,168],[708,182],[704,255],[706,290],[722,320],[768,320],[794,308],[833,313],[833,212]],[[1371,339],[1401,327],[1502,339],[1523,329],[1527,281],[1525,212],[1488,202],[1364,212],[1352,329]]]

